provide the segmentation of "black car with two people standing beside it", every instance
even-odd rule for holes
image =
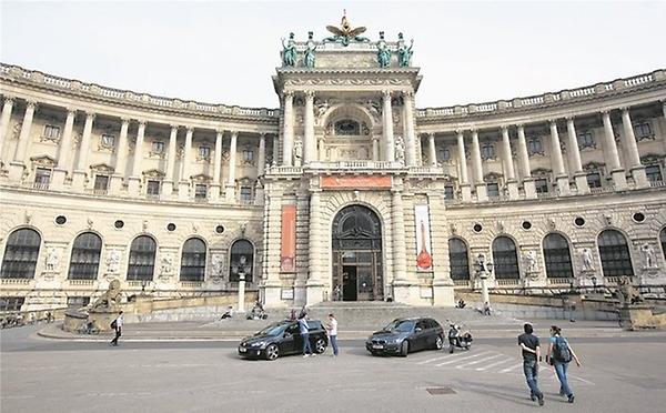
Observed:
[[[310,346],[319,354],[326,351],[329,336],[321,321],[307,320]],[[245,359],[275,360],[281,355],[302,354],[303,339],[296,321],[273,323],[239,344],[239,355]]]

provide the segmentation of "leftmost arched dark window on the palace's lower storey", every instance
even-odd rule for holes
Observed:
[[[7,239],[2,259],[2,279],[33,279],[41,236],[34,230],[16,230]]]

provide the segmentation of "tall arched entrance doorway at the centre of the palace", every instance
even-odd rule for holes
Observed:
[[[384,299],[382,224],[369,208],[343,208],[333,220],[333,300]]]

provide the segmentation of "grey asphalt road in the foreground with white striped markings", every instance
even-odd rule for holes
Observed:
[[[103,343],[0,333],[4,412],[527,412],[514,340],[478,340],[470,352],[373,357],[361,341],[342,354],[274,362],[240,360],[233,342]],[[557,395],[543,365],[546,405],[566,412],[658,412],[666,405],[666,338],[576,339],[569,369],[576,403]],[[445,394],[433,395],[435,389]]]

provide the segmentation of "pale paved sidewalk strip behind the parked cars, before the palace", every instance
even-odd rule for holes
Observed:
[[[162,322],[125,324],[123,341],[239,341],[252,335],[275,320],[223,320],[213,322]],[[535,331],[545,336],[551,325],[559,325],[567,338],[625,338],[625,336],[666,336],[666,331],[628,332],[618,328],[616,322],[565,320],[535,320]],[[339,340],[365,340],[376,328],[347,326],[339,330]],[[475,339],[513,339],[523,329],[522,321],[487,320],[484,323],[468,324]],[[446,331],[447,326],[444,325]],[[73,334],[62,330],[62,323],[47,324],[37,333],[43,339],[68,341],[109,341],[113,333],[99,335]]]

